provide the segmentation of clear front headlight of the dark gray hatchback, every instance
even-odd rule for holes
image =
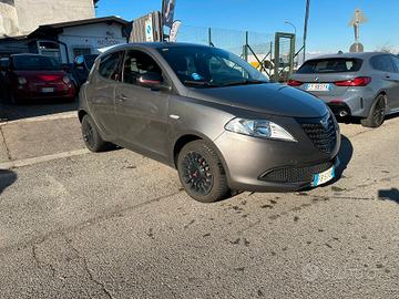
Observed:
[[[225,128],[254,137],[297,142],[284,127],[266,120],[233,118]]]

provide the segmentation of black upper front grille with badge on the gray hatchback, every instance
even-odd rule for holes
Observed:
[[[306,135],[321,153],[330,153],[337,144],[337,132],[334,116],[323,118],[298,120]]]

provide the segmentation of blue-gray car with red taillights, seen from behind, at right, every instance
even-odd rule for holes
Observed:
[[[380,126],[399,112],[399,58],[389,53],[338,53],[306,61],[288,85],[327,103],[340,117]]]

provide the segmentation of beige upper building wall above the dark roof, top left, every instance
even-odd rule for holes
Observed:
[[[0,0],[0,37],[27,35],[41,24],[95,17],[98,0]]]

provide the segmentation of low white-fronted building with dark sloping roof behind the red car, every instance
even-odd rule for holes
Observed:
[[[78,55],[126,43],[130,28],[131,22],[117,17],[40,25],[28,35],[0,39],[0,56],[37,53],[69,64]]]

